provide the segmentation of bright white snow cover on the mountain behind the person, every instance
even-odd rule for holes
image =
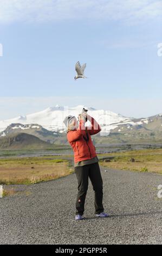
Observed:
[[[102,130],[100,135],[109,135],[111,131],[120,132],[122,129],[138,129],[141,127],[152,127],[154,119],[158,117],[158,127],[161,126],[162,129],[162,114],[158,114],[150,118],[141,118],[135,119],[132,117],[124,117],[121,114],[116,114],[112,111],[106,111],[103,109],[94,109],[92,107],[87,107],[83,105],[78,105],[75,107],[59,106],[49,107],[43,111],[36,112],[33,114],[19,115],[16,118],[1,120],[0,121],[0,137],[5,136],[3,132],[10,124],[18,123],[19,126],[12,127],[12,129],[29,129],[29,126],[25,127],[24,125],[31,125],[30,128],[35,128],[36,125],[41,125],[44,129],[53,132],[63,133],[66,131],[66,126],[64,126],[63,119],[67,115],[75,115],[81,113],[82,108],[85,107],[88,109],[88,114],[95,118],[96,121],[100,124]],[[153,123],[152,123],[153,122]],[[152,124],[150,124],[152,123]],[[20,124],[23,124],[22,126]],[[90,122],[87,121],[87,125],[90,125]],[[124,127],[124,128],[123,128]],[[151,129],[152,130],[152,129]]]

